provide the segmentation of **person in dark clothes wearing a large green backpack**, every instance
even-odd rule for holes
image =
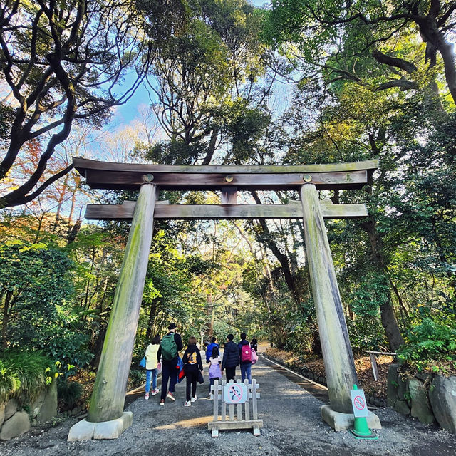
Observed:
[[[168,326],[167,335],[162,338],[160,348],[158,349],[157,358],[162,357],[162,394],[160,395],[160,405],[165,405],[165,398],[175,401],[174,388],[177,383],[177,374],[179,367],[177,358],[182,350],[182,338],[179,333],[176,333],[175,323],[170,323]],[[168,380],[170,381],[170,390],[168,393]]]

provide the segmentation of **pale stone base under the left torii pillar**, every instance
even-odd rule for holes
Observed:
[[[68,442],[75,440],[116,439],[133,424],[133,413],[124,412],[120,418],[100,423],[90,423],[86,419],[73,425],[68,432]]]

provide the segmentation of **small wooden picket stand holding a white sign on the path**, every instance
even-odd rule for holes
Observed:
[[[229,383],[233,383],[233,380],[229,380]],[[237,380],[237,383],[242,383],[241,380]],[[224,398],[224,386],[227,385],[227,380],[222,380],[222,384],[219,384],[219,380],[215,380],[213,389],[211,392],[214,396],[214,417],[210,423],[207,423],[207,428],[212,430],[212,437],[219,437],[219,430],[221,429],[253,429],[254,436],[259,436],[259,428],[263,427],[263,420],[258,419],[258,407],[257,399],[259,398],[259,385],[257,380],[252,378],[252,384],[249,385],[249,380],[244,381],[247,386],[248,397],[246,402],[239,404],[228,404],[228,415],[227,415],[227,402]],[[217,391],[217,394],[215,392]],[[250,400],[252,400],[252,418],[250,418]],[[221,413],[219,418],[219,403],[221,403]],[[234,414],[234,405],[236,405],[236,415]],[[242,411],[242,405],[244,405],[244,413]],[[244,415],[244,419],[242,416]]]

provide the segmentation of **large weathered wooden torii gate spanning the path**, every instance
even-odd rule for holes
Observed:
[[[133,414],[124,413],[123,407],[154,219],[303,219],[329,414],[352,414],[350,390],[358,382],[323,219],[366,217],[368,213],[364,204],[323,204],[318,190],[361,188],[378,167],[378,160],[330,165],[191,166],[73,157],[73,165],[92,188],[140,192],[136,202],[87,207],[88,219],[132,219],[132,224],[88,417],[71,428],[68,440],[115,438],[132,423]],[[160,190],[219,190],[222,204],[166,204],[157,201]],[[301,202],[237,204],[238,190],[296,190]],[[322,410],[322,415],[338,430],[334,425],[337,418],[328,417],[328,410],[325,414]]]

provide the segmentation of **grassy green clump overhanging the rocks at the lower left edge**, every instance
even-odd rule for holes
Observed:
[[[46,356],[29,351],[0,352],[0,403],[16,398],[33,400],[58,377],[57,364]]]

